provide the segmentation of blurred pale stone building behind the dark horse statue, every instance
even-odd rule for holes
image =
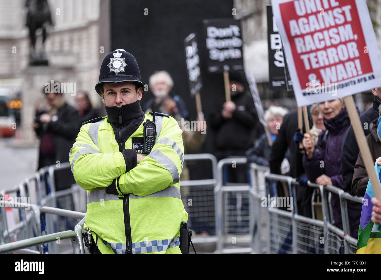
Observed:
[[[89,91],[93,105],[99,105],[94,91],[99,58],[109,52],[109,32],[102,32],[102,28],[107,29],[108,16],[106,13],[104,17],[106,24],[100,24],[99,16],[102,5],[107,5],[108,1],[48,0],[48,3],[54,23],[45,41],[49,65],[29,66],[26,0],[0,1],[0,87],[21,92],[24,139],[35,137],[31,123],[36,102],[38,104],[43,97],[45,82],[75,83],[77,91]],[[37,32],[37,47],[42,45],[41,33]],[[104,44],[100,43],[102,38]],[[73,94],[66,94],[69,104],[75,104],[74,98]]]

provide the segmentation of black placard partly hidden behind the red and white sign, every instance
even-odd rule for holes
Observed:
[[[272,15],[271,5],[267,5],[267,43],[269,45],[269,89],[291,91],[292,81],[288,74],[283,44]]]

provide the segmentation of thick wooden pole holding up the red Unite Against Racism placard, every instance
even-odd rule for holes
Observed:
[[[381,186],[378,180],[378,174],[376,173],[372,156],[370,154],[367,139],[360,123],[359,115],[357,114],[356,106],[353,101],[352,95],[344,97],[345,106],[347,107],[347,112],[349,119],[351,120],[352,128],[356,136],[357,144],[359,145],[362,158],[365,163],[365,169],[367,170],[370,182],[373,186],[373,192],[376,195],[378,201],[381,201]]]

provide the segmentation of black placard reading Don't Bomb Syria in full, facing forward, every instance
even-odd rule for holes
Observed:
[[[203,20],[209,72],[243,70],[241,21]]]

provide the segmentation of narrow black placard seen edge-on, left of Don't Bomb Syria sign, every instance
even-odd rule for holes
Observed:
[[[202,87],[201,71],[200,71],[200,57],[199,49],[197,47],[196,35],[190,34],[184,40],[185,59],[187,63],[189,90],[191,95],[198,91]]]

